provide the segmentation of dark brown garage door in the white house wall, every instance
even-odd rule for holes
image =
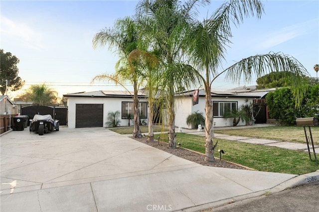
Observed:
[[[76,104],[76,128],[99,126],[103,126],[103,104]]]

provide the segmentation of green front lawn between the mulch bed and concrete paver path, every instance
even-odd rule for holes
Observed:
[[[205,138],[203,136],[186,133],[176,134],[176,143],[180,142],[182,147],[205,153]],[[167,134],[162,134],[160,140],[168,142]],[[319,169],[319,162],[311,161],[308,152],[225,139],[214,139],[214,142],[216,141],[218,141],[217,149],[222,149],[225,152],[222,154],[222,159],[258,171],[301,175]],[[215,157],[219,158],[219,153],[216,150]],[[312,154],[312,159],[314,159],[314,154]]]

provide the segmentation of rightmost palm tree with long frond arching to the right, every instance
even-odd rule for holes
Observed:
[[[213,108],[211,102],[211,85],[221,74],[226,79],[237,82],[244,77],[251,81],[271,71],[283,71],[294,88],[296,106],[300,106],[306,92],[306,69],[293,57],[282,53],[269,53],[245,58],[224,71],[218,72],[226,53],[225,47],[230,42],[233,23],[239,26],[245,17],[261,17],[264,7],[259,0],[229,0],[223,3],[213,14],[202,22],[194,20],[187,36],[187,54],[194,67],[203,73],[202,83],[205,88],[205,160],[214,161],[213,144]]]

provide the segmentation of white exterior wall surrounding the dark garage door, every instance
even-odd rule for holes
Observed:
[[[120,126],[128,126],[128,119],[122,119],[122,102],[133,102],[130,98],[83,98],[83,97],[69,97],[68,105],[68,127],[75,128],[75,106],[76,104],[103,104],[103,127],[107,127],[108,113],[113,111],[120,111],[121,120]],[[146,102],[146,101],[140,101]],[[148,121],[146,119],[146,121]],[[131,126],[133,121],[131,120]]]

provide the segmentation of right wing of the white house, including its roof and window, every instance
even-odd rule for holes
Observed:
[[[186,124],[186,118],[191,113],[198,111],[202,112],[205,117],[205,90],[199,90],[198,92],[198,104],[192,105],[194,91],[183,92],[176,96],[176,112],[175,112],[175,126],[183,128],[197,128],[197,126],[189,126]],[[212,105],[213,105],[213,126],[223,127],[232,126],[233,119],[225,118],[224,112],[227,108],[232,110],[234,108],[239,109],[240,106],[253,102],[254,98],[258,96],[248,96],[245,94],[233,94],[229,92],[211,92]],[[238,125],[245,125],[245,122],[240,121]]]

